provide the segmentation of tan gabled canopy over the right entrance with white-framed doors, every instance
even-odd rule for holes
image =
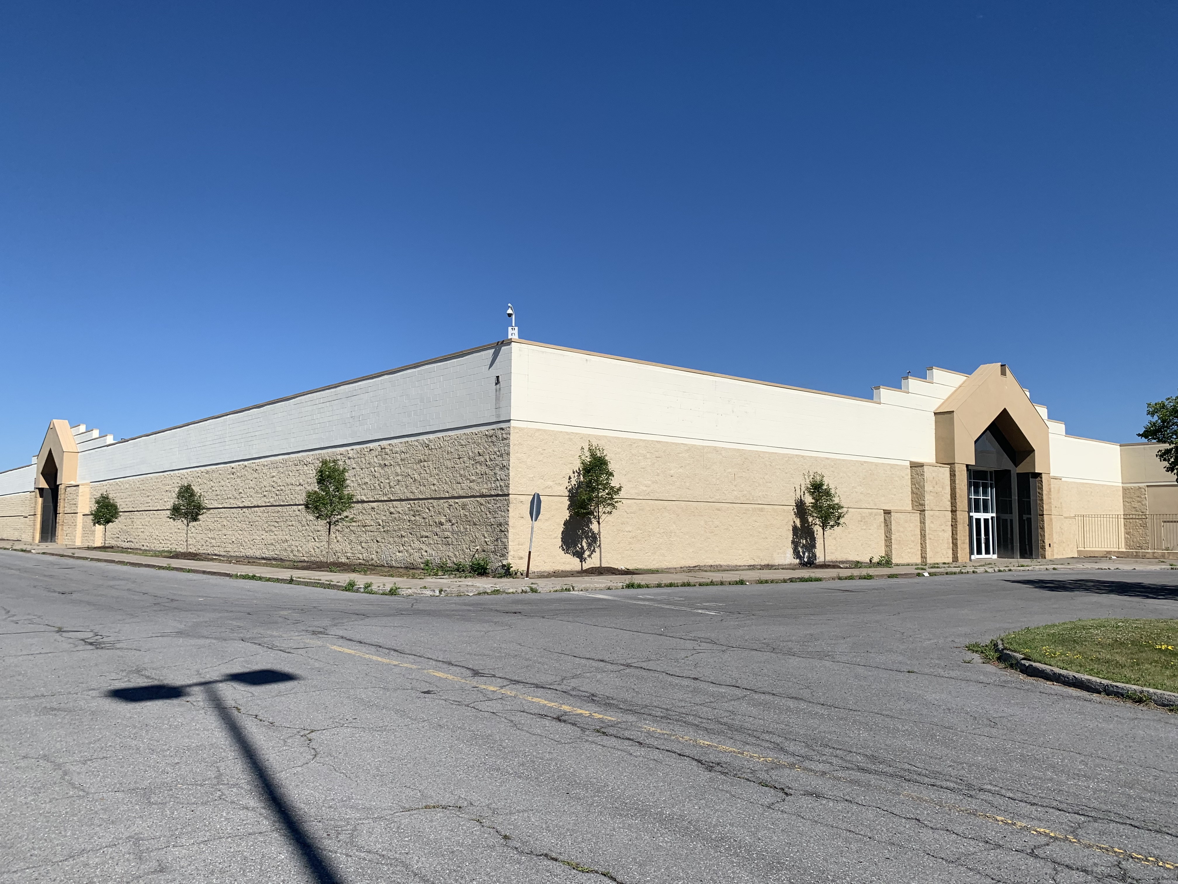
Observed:
[[[972,464],[974,441],[994,424],[1014,447],[1019,473],[1051,473],[1047,423],[1001,363],[969,375],[937,409],[935,421],[939,463]]]

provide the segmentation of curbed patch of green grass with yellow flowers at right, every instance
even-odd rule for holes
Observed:
[[[1178,692],[1178,620],[1070,620],[1019,629],[1002,642],[1060,669]]]

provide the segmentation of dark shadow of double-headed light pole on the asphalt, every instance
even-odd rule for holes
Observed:
[[[194,681],[190,685],[143,685],[141,687],[119,687],[113,691],[107,691],[106,695],[124,702],[150,702],[152,700],[176,700],[181,697],[187,697],[191,688],[201,688],[205,698],[217,712],[217,717],[220,719],[221,725],[233,740],[233,745],[237,746],[238,752],[245,761],[245,766],[249,768],[250,773],[253,774],[258,790],[270,804],[271,812],[285,830],[287,839],[298,851],[299,858],[303,860],[306,870],[311,873],[311,878],[315,882],[318,882],[318,884],[340,884],[339,877],[327,863],[326,857],[319,852],[315,839],[307,833],[306,827],[298,818],[298,814],[291,806],[290,800],[283,794],[282,789],[274,781],[274,778],[266,768],[265,763],[258,757],[258,753],[250,744],[249,738],[234,719],[233,713],[221,701],[220,694],[217,691],[217,685],[226,681],[237,681],[244,685],[257,686],[273,685],[280,681],[294,681],[296,679],[298,679],[298,675],[292,675],[289,672],[279,672],[278,669],[252,669],[250,672],[234,672],[223,679],[216,679],[212,681]]]

